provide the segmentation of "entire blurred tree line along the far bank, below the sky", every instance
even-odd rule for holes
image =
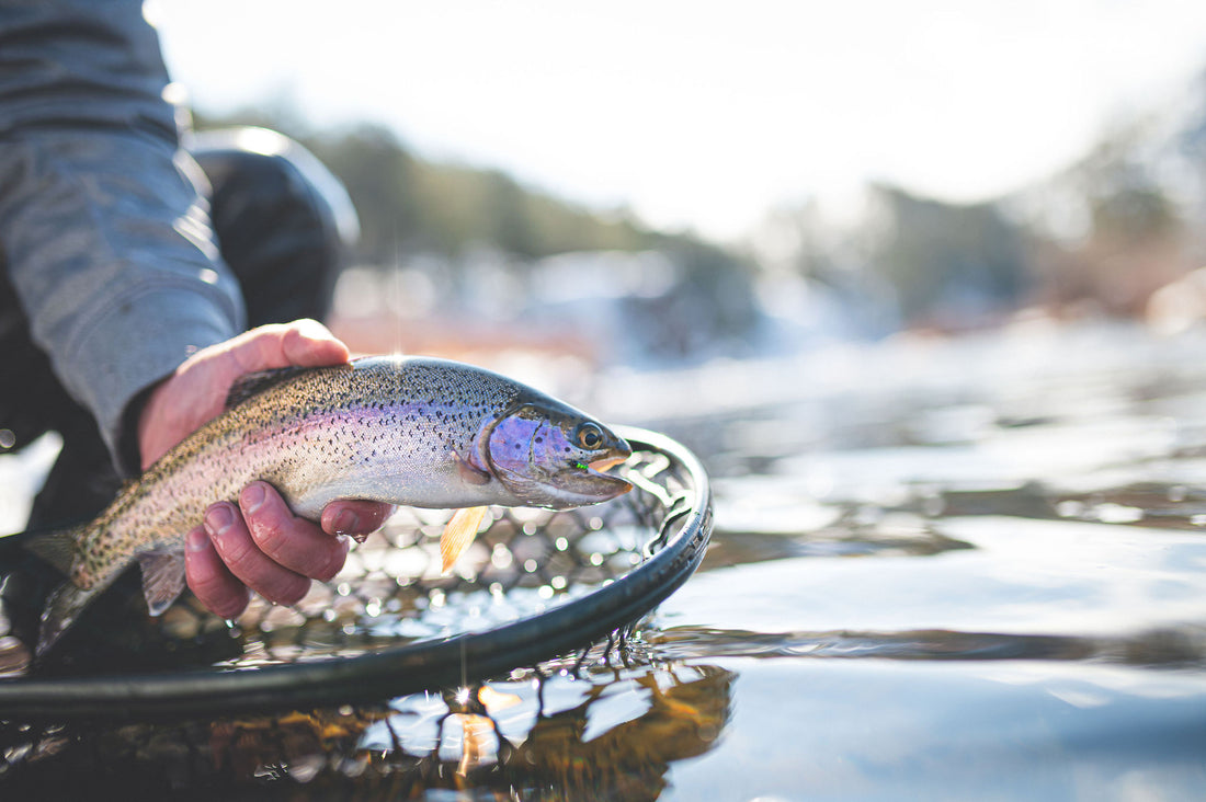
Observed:
[[[1206,251],[1198,233],[1206,216],[1206,77],[1190,94],[1116,124],[1079,160],[1011,195],[959,204],[879,183],[866,188],[853,221],[833,224],[808,200],[775,210],[737,247],[657,232],[626,210],[587,209],[498,170],[423,159],[379,125],[310,131],[277,111],[199,127],[254,124],[300,141],[356,205],[356,262],[382,271],[416,257],[437,264],[441,312],[474,295],[482,263],[502,265],[509,297],[535,306],[548,279],[540,265],[551,257],[656,252],[672,263],[673,281],[652,295],[609,297],[619,311],[607,320],[650,358],[680,361],[757,351],[775,339],[767,321],[794,326],[779,341],[798,346],[804,329],[966,330],[1025,308],[1055,317],[1164,315],[1153,299],[1184,295],[1178,282]],[[584,285],[597,285],[586,271],[622,262],[569,264]],[[1187,311],[1178,300],[1189,320],[1206,320],[1206,271],[1200,283],[1200,308]]]

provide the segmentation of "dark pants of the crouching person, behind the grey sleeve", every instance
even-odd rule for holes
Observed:
[[[346,245],[338,218],[352,215],[355,224],[346,195],[320,189],[334,180],[330,174],[323,171],[316,181],[321,166],[309,154],[295,159],[288,151],[250,152],[238,147],[236,137],[211,140],[193,156],[213,188],[213,230],[242,287],[248,326],[322,320]],[[34,500],[28,527],[93,517],[117,493],[121,479],[92,415],[68,396],[46,355],[30,340],[29,322],[4,270],[0,364],[0,429],[12,433],[13,447],[47,431],[63,437],[63,451]]]

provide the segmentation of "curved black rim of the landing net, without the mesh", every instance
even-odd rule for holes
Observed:
[[[0,680],[0,719],[159,718],[373,703],[482,681],[608,638],[678,590],[699,566],[712,535],[712,491],[698,458],[663,434],[614,428],[636,451],[660,453],[680,470],[687,503],[667,510],[660,549],[589,595],[488,631],[356,657],[236,672]]]

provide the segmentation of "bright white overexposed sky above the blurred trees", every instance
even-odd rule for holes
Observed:
[[[737,239],[868,181],[1023,187],[1206,68],[1201,0],[152,0],[194,106],[384,124],[418,154]]]

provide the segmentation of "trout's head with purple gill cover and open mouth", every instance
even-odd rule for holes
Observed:
[[[632,490],[607,473],[632,456],[611,429],[552,399],[521,399],[496,418],[479,441],[491,475],[523,504],[568,509]]]

